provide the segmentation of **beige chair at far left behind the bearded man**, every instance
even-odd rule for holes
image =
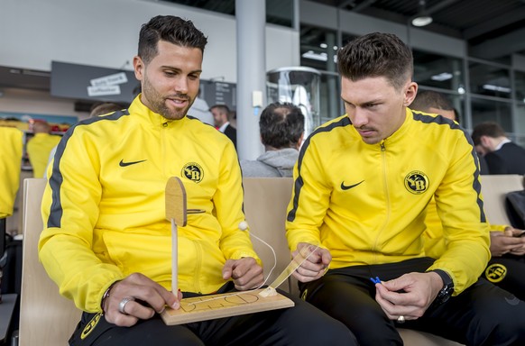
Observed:
[[[23,265],[20,301],[20,346],[67,345],[80,320],[80,310],[59,294],[43,269],[37,252],[43,230],[41,196],[46,179],[23,182]]]

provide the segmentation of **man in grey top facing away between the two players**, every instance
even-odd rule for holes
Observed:
[[[290,103],[275,102],[264,108],[259,119],[264,153],[255,160],[241,161],[244,177],[291,177],[304,134],[304,115]]]

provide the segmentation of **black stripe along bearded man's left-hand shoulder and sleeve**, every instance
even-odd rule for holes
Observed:
[[[64,178],[62,177],[62,172],[60,172],[60,159],[62,159],[62,155],[64,154],[64,150],[68,145],[69,138],[71,138],[71,136],[79,126],[85,126],[90,123],[97,123],[103,121],[115,121],[120,119],[124,115],[129,115],[127,110],[116,111],[115,113],[106,116],[95,116],[93,118],[89,118],[74,124],[69,128],[68,132],[64,134],[64,136],[59,142],[59,145],[57,146],[57,151],[55,152],[53,160],[53,169],[51,172],[51,177],[49,179],[49,184],[51,187],[51,210],[47,222],[48,228],[60,227],[61,225],[63,209],[62,203],[60,201],[60,187],[62,186]]]

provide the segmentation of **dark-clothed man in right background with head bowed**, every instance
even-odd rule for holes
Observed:
[[[513,143],[498,123],[477,124],[472,140],[484,156],[489,174],[525,174],[525,149]]]

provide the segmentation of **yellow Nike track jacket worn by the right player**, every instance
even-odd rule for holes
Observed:
[[[448,249],[430,267],[455,295],[484,270],[489,232],[479,167],[468,134],[441,116],[412,112],[391,137],[366,144],[347,116],[313,132],[300,150],[287,216],[290,250],[330,250],[330,268],[425,256],[425,210],[436,196]]]

